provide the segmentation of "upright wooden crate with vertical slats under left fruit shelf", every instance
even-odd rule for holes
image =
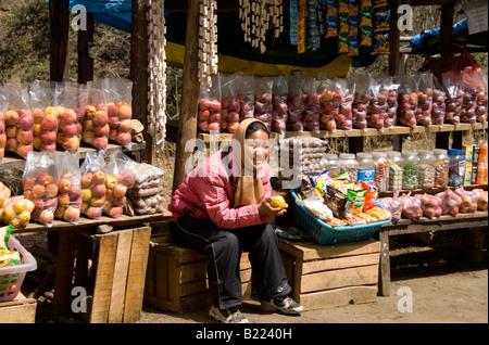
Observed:
[[[89,323],[130,323],[139,320],[148,265],[150,227],[115,229],[104,234],[83,230],[60,233],[54,281],[54,318],[75,312]],[[61,266],[61,267],[60,267]],[[86,310],[79,310],[85,289]],[[77,310],[73,305],[76,304]]]

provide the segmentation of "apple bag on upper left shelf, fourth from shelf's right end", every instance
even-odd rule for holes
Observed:
[[[37,151],[55,151],[58,136],[58,95],[55,82],[35,80],[29,95],[33,111],[33,148]]]

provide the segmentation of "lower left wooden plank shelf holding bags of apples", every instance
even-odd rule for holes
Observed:
[[[172,217],[172,213],[168,210],[162,214],[154,214],[154,215],[140,215],[140,216],[123,215],[120,218],[102,216],[99,219],[90,219],[85,216],[82,216],[77,225],[73,225],[64,220],[54,219],[52,227],[48,228],[41,223],[30,221],[25,228],[14,229],[13,233],[73,230],[74,227],[76,227],[77,229],[90,229],[101,225],[111,225],[114,228],[128,227],[141,225],[143,222],[164,221],[170,217]]]

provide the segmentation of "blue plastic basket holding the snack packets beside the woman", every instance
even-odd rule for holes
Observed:
[[[297,196],[293,190],[290,194],[296,200],[293,217],[302,229],[311,234],[318,244],[337,244],[367,240],[372,238],[381,226],[388,225],[391,218],[367,225],[331,227],[314,216]],[[386,209],[380,203],[378,206]]]

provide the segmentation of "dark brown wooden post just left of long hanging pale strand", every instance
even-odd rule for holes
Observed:
[[[148,127],[148,0],[133,0],[130,30],[130,80],[133,80],[133,118]],[[152,163],[153,140],[142,132],[146,150],[141,162]]]

